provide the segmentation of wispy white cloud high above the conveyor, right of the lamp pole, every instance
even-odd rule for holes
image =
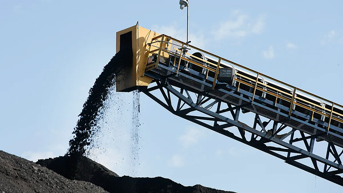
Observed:
[[[230,19],[221,23],[216,30],[211,33],[216,39],[239,38],[247,36],[248,34],[260,34],[265,26],[265,17],[260,15],[257,21],[249,20],[249,16],[246,14],[240,14],[235,10],[232,12]],[[252,22],[252,24],[248,23]]]

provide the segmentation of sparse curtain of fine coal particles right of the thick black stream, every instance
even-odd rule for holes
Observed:
[[[97,125],[86,149],[90,158],[119,175],[139,177],[140,124],[138,92],[116,92],[110,88],[99,110]]]

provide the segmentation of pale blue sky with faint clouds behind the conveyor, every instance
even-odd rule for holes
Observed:
[[[88,90],[116,52],[117,31],[139,21],[186,41],[186,11],[177,0],[129,2],[0,0],[1,150],[30,160],[64,155]],[[191,0],[190,40],[343,104],[342,6],[342,1]],[[144,94],[140,165],[133,172],[127,161],[132,126],[125,122],[132,116],[132,93],[116,96],[123,100],[109,103],[113,112],[103,123],[106,152],[93,156],[119,175],[162,176],[239,193],[343,191],[175,117]],[[244,118],[250,123],[251,115]]]

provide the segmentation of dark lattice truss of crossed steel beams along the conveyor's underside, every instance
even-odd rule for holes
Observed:
[[[155,79],[155,81],[157,83],[157,86],[148,88],[143,92],[171,113],[179,117],[185,118],[186,120],[189,120],[203,127],[209,128],[217,133],[233,138],[246,145],[257,148],[270,155],[283,159],[286,163],[291,164],[292,166],[295,166],[312,174],[318,175],[321,178],[327,179],[331,182],[343,186],[343,178],[337,175],[343,173],[343,166],[341,161],[341,155],[343,154],[343,151],[340,154],[338,154],[335,145],[329,142],[326,152],[326,158],[320,157],[313,153],[315,138],[323,134],[305,136],[304,132],[297,130],[297,128],[292,128],[292,130],[288,133],[279,135],[279,133],[287,127],[288,120],[273,121],[272,129],[267,130],[266,127],[272,120],[268,122],[262,122],[258,114],[256,114],[255,116],[253,127],[250,127],[246,124],[239,122],[238,120],[241,108],[247,105],[257,105],[257,103],[255,102],[250,104],[242,104],[242,101],[240,101],[239,105],[234,106],[232,104],[221,101],[220,99],[213,98],[213,96],[208,95],[208,93],[206,92],[202,92],[198,93],[197,101],[194,103],[190,96],[191,91],[188,88],[181,87],[180,91],[178,91],[169,83],[167,78],[158,77],[157,79]],[[164,89],[167,92],[165,92]],[[163,102],[161,99],[158,99],[155,95],[150,93],[154,90],[161,91],[165,102]],[[187,96],[184,95],[185,93]],[[173,104],[171,103],[171,95],[176,96],[176,98],[178,99],[178,103],[175,107],[173,107]],[[204,103],[209,102],[210,100],[214,101],[206,107],[202,107]],[[183,104],[181,105],[181,103]],[[221,110],[221,105],[223,105],[223,103],[226,103],[228,107],[226,109]],[[209,107],[215,104],[217,104],[217,108],[215,110],[208,110]],[[184,106],[188,107],[182,109],[182,107]],[[189,115],[189,113],[194,111],[202,113],[203,116]],[[222,114],[224,112],[230,112],[232,118],[223,116]],[[213,123],[208,124],[204,123],[203,121]],[[218,122],[223,124],[219,125]],[[281,124],[279,128],[277,128],[278,124]],[[257,125],[261,128],[261,131],[257,130]],[[237,127],[240,135],[236,136],[234,133],[225,130],[226,128],[230,127]],[[296,132],[300,133],[301,138],[294,139],[294,134]],[[249,140],[246,136],[247,133],[251,134],[251,138]],[[289,136],[291,136],[291,139],[289,141],[286,141],[286,138]],[[260,139],[258,140],[257,138],[259,137]],[[309,143],[307,141],[308,139],[310,139]],[[299,148],[293,144],[296,142],[301,143],[301,141],[305,145],[306,149]],[[282,148],[266,145],[267,143],[282,146]],[[282,155],[282,153],[284,152],[287,153],[287,156]],[[297,155],[291,156],[291,154]],[[330,155],[332,155],[332,159]],[[306,158],[310,158],[312,164],[306,165],[299,162],[299,160]],[[333,161],[331,161],[330,159]],[[320,168],[318,166],[318,162],[324,163],[324,167]],[[331,171],[329,171],[330,169]]]

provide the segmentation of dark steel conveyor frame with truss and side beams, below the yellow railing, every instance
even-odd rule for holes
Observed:
[[[159,48],[159,54],[161,54],[161,49],[162,44]],[[181,61],[181,58],[178,58],[179,61]],[[324,125],[324,128],[321,128],[318,126],[318,123],[310,123],[320,122],[320,120],[315,120],[313,116],[309,117],[292,110],[290,107],[276,104],[276,102],[257,96],[255,95],[255,90],[251,93],[228,84],[220,84],[215,81],[216,76],[214,79],[206,77],[206,80],[213,81],[213,84],[211,84],[209,81],[194,78],[199,75],[197,71],[189,69],[189,72],[186,73],[179,71],[179,66],[170,67],[165,65],[165,63],[159,60],[159,57],[157,61],[159,62],[149,67],[147,66],[150,69],[146,69],[144,73],[144,76],[152,77],[153,82],[157,86],[141,89],[140,92],[145,93],[165,109],[193,123],[278,157],[292,166],[343,186],[343,178],[339,176],[339,174],[343,173],[341,159],[343,157],[341,156],[343,150],[342,152],[337,151],[337,149],[343,147],[343,137],[332,133],[331,130],[329,131],[330,123],[326,127],[325,123],[321,123]],[[151,66],[154,67],[151,68]],[[215,85],[215,83],[217,84]],[[155,90],[159,90],[162,93],[163,99],[159,99],[151,93]],[[196,101],[193,101],[191,98],[191,93],[197,94]],[[176,96],[178,99],[177,104],[172,104],[171,95]],[[213,102],[208,106],[202,106],[204,103],[211,101]],[[292,101],[294,101],[294,96]],[[276,109],[266,104],[273,105]],[[216,105],[216,108],[207,110],[208,107],[214,105]],[[202,116],[189,115],[191,112],[196,111],[200,112]],[[239,121],[239,115],[243,111],[255,114],[253,127]],[[288,111],[291,113],[285,113]],[[230,112],[230,117],[223,116],[226,112]],[[262,122],[260,116],[268,118],[269,121]],[[331,116],[332,110],[330,118]],[[272,125],[272,128],[267,130],[269,124]],[[258,130],[257,126],[261,130]],[[230,129],[230,127],[237,127],[239,131],[237,133],[239,134],[226,130]],[[331,127],[333,126],[331,125]],[[287,130],[286,128],[290,131],[284,133]],[[250,138],[248,138],[247,133],[251,134]],[[295,134],[300,134],[301,137],[295,138]],[[328,142],[325,158],[314,154],[316,138],[321,138]],[[333,138],[337,139],[333,140]],[[287,139],[289,140],[287,141]],[[304,146],[305,149],[298,146]],[[308,158],[311,160],[311,162],[308,162],[309,164],[300,163],[301,160]]]

